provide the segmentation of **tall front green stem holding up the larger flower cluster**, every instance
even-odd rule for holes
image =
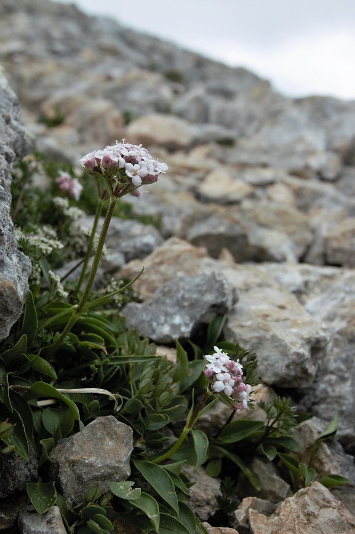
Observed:
[[[102,225],[102,229],[101,229],[101,233],[100,233],[100,237],[99,237],[99,241],[98,241],[98,247],[96,248],[96,252],[95,252],[95,255],[94,255],[93,262],[92,262],[91,270],[90,270],[90,273],[89,273],[89,276],[88,276],[88,279],[87,279],[87,282],[86,282],[86,286],[85,286],[82,298],[80,299],[80,302],[78,304],[78,308],[77,308],[75,314],[71,317],[71,319],[69,320],[67,326],[64,328],[63,332],[61,333],[60,337],[54,343],[52,349],[49,352],[48,357],[53,356],[53,354],[59,349],[59,347],[60,347],[61,343],[63,342],[64,338],[66,337],[67,334],[69,334],[71,328],[75,325],[76,321],[79,319],[80,315],[82,315],[82,313],[84,311],[84,307],[85,307],[85,303],[87,301],[87,297],[90,294],[91,287],[92,287],[93,281],[95,279],[95,274],[96,274],[96,271],[98,270],[98,266],[99,266],[100,259],[101,259],[101,254],[102,254],[102,249],[103,249],[103,244],[104,244],[104,241],[106,239],[106,234],[107,234],[107,231],[108,231],[108,227],[110,225],[112,214],[114,213],[116,202],[117,202],[117,198],[111,196],[110,197],[109,207],[107,209],[107,213],[106,213],[106,216],[105,216],[104,221],[103,221],[103,225]]]

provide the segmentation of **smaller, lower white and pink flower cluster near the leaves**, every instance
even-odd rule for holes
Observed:
[[[239,360],[233,362],[218,347],[214,347],[214,350],[214,354],[204,356],[208,362],[205,376],[211,384],[212,391],[226,395],[232,399],[233,405],[239,410],[245,410],[248,407],[252,386],[243,382],[243,365],[239,363]]]

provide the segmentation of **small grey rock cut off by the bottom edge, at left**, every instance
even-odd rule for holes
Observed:
[[[37,514],[33,507],[19,514],[20,534],[66,534],[60,509],[53,506],[48,512]]]

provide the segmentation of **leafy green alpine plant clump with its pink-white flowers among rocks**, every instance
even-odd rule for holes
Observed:
[[[118,520],[144,532],[206,533],[188,504],[193,482],[183,474],[183,464],[204,465],[209,475],[224,478],[216,518],[228,519],[237,506],[240,471],[260,489],[249,468],[255,455],[282,461],[294,491],[310,484],[316,449],[308,466],[292,456],[299,446],[291,436],[297,416],[289,399],[261,403],[263,421],[236,417],[253,405],[257,359],[222,339],[223,317],[208,325],[203,347],[193,341],[183,347],[176,340],[173,364],[138,332],[127,331],[118,312],[139,299],[131,287],[134,280],[110,278],[93,290],[118,199],[128,193],[140,196],[143,186],[165,174],[166,164],[124,140],[80,161],[83,185],[71,168],[46,166],[38,155],[20,162],[14,176],[13,218],[33,272],[23,314],[0,345],[0,472],[9,454],[28,460],[34,451],[38,480],[27,485],[29,499],[39,514],[57,504],[68,532],[80,534],[114,532]],[[46,191],[28,186],[31,169],[38,167],[49,178]],[[26,176],[26,187],[21,176]],[[92,231],[84,232],[76,227],[84,214],[76,202],[82,195],[80,202],[89,199],[91,206],[90,182],[97,205]],[[77,262],[60,278],[56,270],[63,258]],[[230,415],[209,435],[199,422],[218,400]],[[133,430],[130,480],[112,481],[106,494],[95,486],[82,503],[71,506],[49,477],[51,451],[60,439],[104,415],[114,415]],[[335,430],[336,421],[317,444]],[[328,486],[345,481],[340,475],[321,480]]]

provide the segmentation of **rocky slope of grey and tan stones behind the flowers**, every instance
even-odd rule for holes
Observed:
[[[296,532],[289,517],[297,532],[355,531],[355,101],[289,99],[245,69],[45,0],[0,0],[0,62],[51,159],[78,165],[125,138],[169,166],[131,200],[162,214],[160,230],[116,221],[108,236],[107,270],[145,267],[128,326],[170,345],[227,313],[224,334],[257,353],[264,391],[292,395],[313,429],[338,413],[322,469],[351,483],[333,496],[283,489],[278,508],[246,494],[238,532]]]

